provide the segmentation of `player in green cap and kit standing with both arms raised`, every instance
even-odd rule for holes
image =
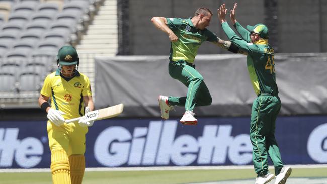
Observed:
[[[250,80],[257,94],[252,105],[250,140],[253,145],[253,164],[257,178],[255,184],[270,182],[275,176],[268,171],[268,157],[275,166],[275,184],[286,183],[292,172],[283,165],[279,147],[275,139],[275,122],[281,101],[275,78],[274,49],[268,44],[268,28],[263,24],[242,27],[235,19],[237,3],[230,11],[230,19],[240,38],[225,20],[225,4],[218,9],[218,18],[228,39],[241,52],[247,53],[247,66]]]

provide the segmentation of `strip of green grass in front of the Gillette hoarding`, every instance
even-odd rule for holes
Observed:
[[[273,172],[273,170],[271,170]],[[253,169],[230,170],[154,170],[154,171],[88,171],[84,184],[177,184],[191,182],[254,179]],[[327,178],[327,168],[293,168],[291,177]],[[48,172],[0,173],[1,184],[51,184]]]

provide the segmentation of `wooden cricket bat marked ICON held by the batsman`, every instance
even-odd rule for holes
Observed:
[[[102,120],[102,119],[107,119],[107,118],[112,118],[112,117],[118,116],[120,113],[123,112],[123,109],[124,109],[124,104],[118,104],[115,106],[110,106],[107,108],[90,111],[87,114],[85,114],[84,116],[86,117],[87,121]],[[73,118],[70,120],[65,120],[65,123],[78,121],[82,117],[83,116],[78,117],[78,118]]]

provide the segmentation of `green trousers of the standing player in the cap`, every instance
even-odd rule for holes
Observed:
[[[278,95],[260,94],[252,105],[250,140],[253,146],[253,164],[258,176],[266,175],[268,157],[275,167],[275,175],[282,169],[283,162],[275,139],[276,118],[281,108]]]

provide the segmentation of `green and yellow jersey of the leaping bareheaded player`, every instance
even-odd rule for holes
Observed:
[[[189,63],[194,62],[198,48],[204,41],[218,41],[217,36],[211,31],[199,30],[194,27],[191,18],[166,18],[167,26],[178,37],[178,41],[171,42],[169,59],[171,61],[185,60]]]

